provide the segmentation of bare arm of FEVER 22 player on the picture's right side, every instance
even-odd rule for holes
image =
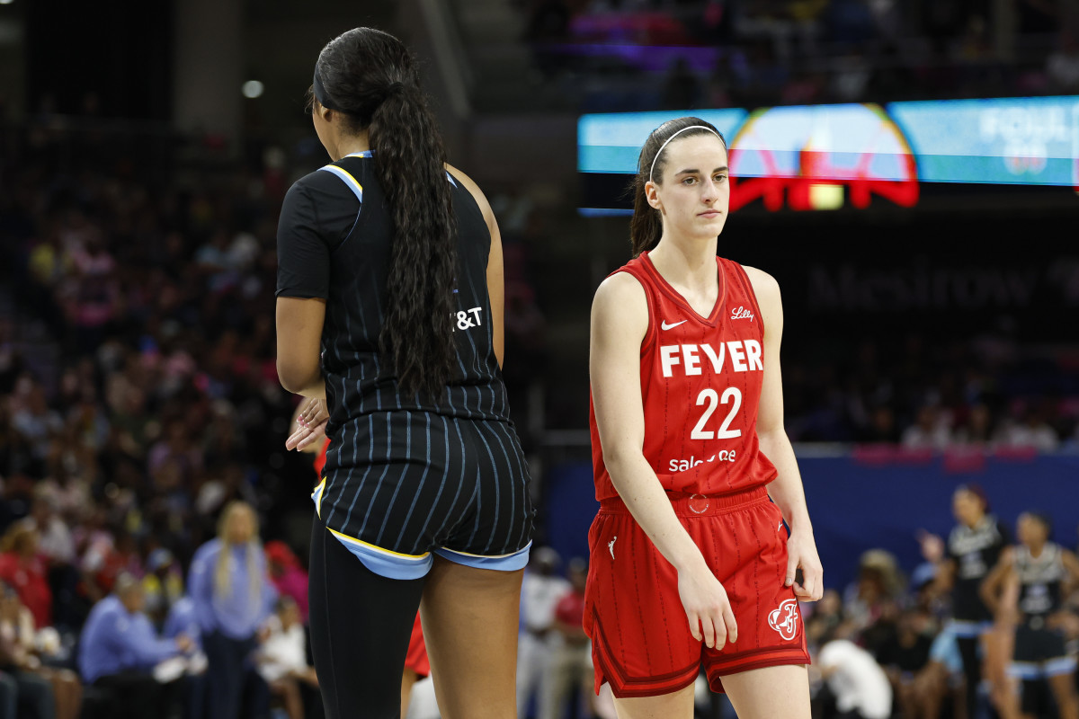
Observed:
[[[779,369],[779,345],[783,336],[783,304],[779,284],[767,273],[746,267],[756,302],[761,307],[764,327],[764,382],[757,407],[756,435],[761,451],[776,466],[776,479],[768,485],[768,494],[783,513],[791,528],[787,541],[787,585],[803,602],[816,602],[824,592],[824,572],[817,554],[809,510],[806,509],[802,475],[794,458],[791,440],[783,428],[783,378]],[[795,571],[802,569],[802,584]]]

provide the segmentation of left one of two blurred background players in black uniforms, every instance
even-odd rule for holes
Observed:
[[[952,630],[962,658],[966,677],[967,716],[974,717],[982,662],[993,680],[994,702],[999,701],[998,683],[1003,682],[1005,664],[993,635],[993,613],[979,590],[1008,545],[1008,528],[988,513],[988,501],[976,485],[961,485],[952,496],[952,512],[958,524],[948,535],[944,562],[937,577],[940,591],[952,591]],[[998,670],[994,670],[996,666]]]

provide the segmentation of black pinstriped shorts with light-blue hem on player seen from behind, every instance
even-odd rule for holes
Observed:
[[[528,564],[534,511],[510,423],[374,413],[345,427],[334,450],[339,467],[312,499],[371,571],[415,579],[433,554],[506,571]]]

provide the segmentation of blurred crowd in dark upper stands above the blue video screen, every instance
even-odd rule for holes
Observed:
[[[596,111],[1079,92],[1064,0],[520,5],[537,65]]]

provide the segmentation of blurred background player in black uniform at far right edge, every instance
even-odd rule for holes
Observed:
[[[1049,541],[1051,524],[1044,515],[1020,514],[1015,529],[1020,544],[1005,553],[982,594],[991,605],[1002,598],[1003,612],[1017,620],[1009,674],[1023,682],[1022,716],[1052,716],[1048,687],[1061,719],[1079,719],[1076,659],[1060,632],[1064,597],[1079,582],[1079,559]]]

